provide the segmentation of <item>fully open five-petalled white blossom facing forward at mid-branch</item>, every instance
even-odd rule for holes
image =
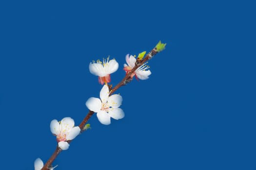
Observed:
[[[122,119],[124,112],[118,108],[121,105],[122,97],[118,94],[109,96],[109,89],[107,85],[103,85],[99,93],[100,99],[89,98],[85,103],[87,108],[97,113],[97,118],[100,123],[109,125],[110,118]]]

